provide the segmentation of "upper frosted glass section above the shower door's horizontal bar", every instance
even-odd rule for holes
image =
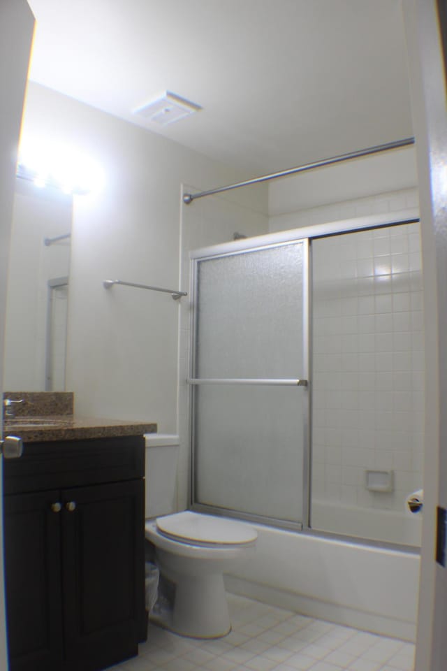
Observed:
[[[302,377],[303,243],[198,262],[196,377]]]

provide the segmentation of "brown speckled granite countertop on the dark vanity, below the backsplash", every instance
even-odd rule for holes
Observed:
[[[155,422],[121,421],[72,414],[29,415],[6,420],[4,435],[17,435],[24,442],[119,438],[123,435],[156,433]]]

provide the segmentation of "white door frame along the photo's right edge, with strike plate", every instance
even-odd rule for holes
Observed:
[[[446,68],[437,0],[404,0],[402,8],[416,137],[427,345],[425,496],[415,670],[443,671],[447,655],[447,573],[436,563],[434,548],[436,509],[438,505],[447,507]]]

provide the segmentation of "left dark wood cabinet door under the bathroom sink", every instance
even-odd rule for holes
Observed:
[[[59,491],[5,496],[6,621],[11,671],[60,671]]]

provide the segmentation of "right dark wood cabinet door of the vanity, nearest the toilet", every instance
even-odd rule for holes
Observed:
[[[62,492],[67,671],[138,654],[144,603],[144,481]]]

